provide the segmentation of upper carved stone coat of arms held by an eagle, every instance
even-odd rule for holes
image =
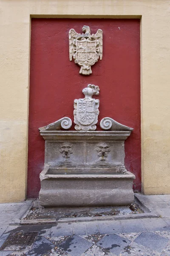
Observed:
[[[103,32],[98,29],[96,34],[91,35],[89,26],[83,26],[84,33],[78,34],[74,29],[69,31],[69,57],[70,61],[74,58],[81,69],[82,75],[90,75],[92,73],[91,66],[98,59],[102,60]]]

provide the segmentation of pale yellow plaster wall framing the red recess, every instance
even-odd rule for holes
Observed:
[[[169,0],[0,0],[0,202],[26,196],[30,17],[142,17],[142,187],[170,193]]]

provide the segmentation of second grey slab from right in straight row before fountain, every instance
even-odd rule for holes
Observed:
[[[142,220],[133,219],[133,220],[120,220],[124,233],[134,233],[147,231],[147,228],[144,226]]]

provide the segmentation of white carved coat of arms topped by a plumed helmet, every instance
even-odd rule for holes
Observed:
[[[76,130],[96,130],[96,123],[99,115],[99,99],[93,99],[92,96],[99,95],[99,87],[94,84],[88,84],[82,92],[84,99],[74,100],[74,123]]]

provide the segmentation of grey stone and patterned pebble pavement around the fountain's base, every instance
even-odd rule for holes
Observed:
[[[160,218],[17,226],[30,203],[0,204],[0,256],[170,256],[170,195],[142,197]]]

